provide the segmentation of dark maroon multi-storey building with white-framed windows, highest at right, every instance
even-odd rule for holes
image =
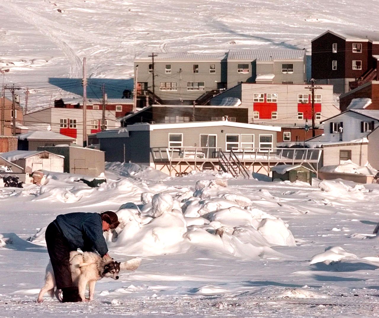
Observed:
[[[326,31],[312,40],[312,78],[332,84],[334,91],[379,80],[379,41]]]

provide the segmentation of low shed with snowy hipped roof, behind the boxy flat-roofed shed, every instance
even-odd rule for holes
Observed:
[[[54,133],[53,131],[31,131],[18,136],[18,150],[37,150],[38,147],[53,147],[56,145],[76,142],[75,138]]]

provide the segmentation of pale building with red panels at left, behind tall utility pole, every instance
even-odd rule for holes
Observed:
[[[101,131],[102,111],[87,109],[86,132],[94,134]],[[28,113],[24,116],[25,125],[35,130],[45,130],[50,126],[51,131],[76,139],[78,145],[83,145],[83,110],[70,108],[45,108]],[[115,111],[105,111],[105,129],[120,126]]]

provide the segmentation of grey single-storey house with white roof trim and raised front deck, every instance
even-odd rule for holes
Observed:
[[[219,122],[134,124],[97,134],[106,161],[134,162],[168,175],[192,170],[226,171],[237,177],[248,170],[269,174],[279,163],[317,163],[318,150],[276,147],[280,128],[268,125]]]

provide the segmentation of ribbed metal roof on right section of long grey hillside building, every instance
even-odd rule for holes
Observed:
[[[304,59],[305,50],[229,50],[228,61],[273,61]]]

